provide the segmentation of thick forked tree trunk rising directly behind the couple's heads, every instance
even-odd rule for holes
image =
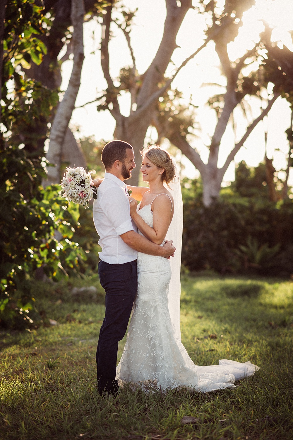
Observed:
[[[112,7],[113,2],[111,2],[111,4],[106,8],[106,14],[104,15],[102,25],[101,40],[101,65],[108,84],[106,99],[109,105],[109,111],[116,119],[114,138],[129,142],[134,148],[135,158],[139,159],[139,151],[144,146],[145,134],[151,123],[152,114],[154,112],[157,99],[162,93],[160,83],[167,81],[164,78],[164,74],[170,62],[171,56],[177,47],[177,32],[188,9],[192,7],[192,0],[181,0],[181,2],[178,2],[178,4],[176,0],[166,0],[166,20],[163,37],[152,63],[146,72],[141,75],[141,77],[137,78],[137,80],[141,82],[141,85],[136,88],[134,87],[134,89],[131,91],[132,108],[129,117],[125,117],[120,113],[117,100],[118,92],[109,73],[108,44],[110,38],[110,25],[112,22]],[[130,46],[129,38],[127,39],[127,43]],[[130,53],[133,56],[132,51],[130,51]],[[157,95],[157,93],[159,94]],[[132,172],[132,178],[127,182],[137,184],[138,176],[139,167],[137,166]]]

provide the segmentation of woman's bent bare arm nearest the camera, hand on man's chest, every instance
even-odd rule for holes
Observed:
[[[165,194],[160,194],[154,202],[153,206],[153,227],[148,226],[141,216],[136,212],[137,201],[134,198],[129,199],[130,216],[142,234],[153,243],[160,245],[172,220],[172,204],[170,198]]]

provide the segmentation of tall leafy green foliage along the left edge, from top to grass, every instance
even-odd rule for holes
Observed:
[[[31,279],[36,271],[58,280],[77,273],[82,250],[72,242],[79,210],[41,187],[44,141],[58,90],[25,76],[47,52],[38,38],[51,22],[33,0],[5,9],[0,127],[0,326],[34,326]]]

